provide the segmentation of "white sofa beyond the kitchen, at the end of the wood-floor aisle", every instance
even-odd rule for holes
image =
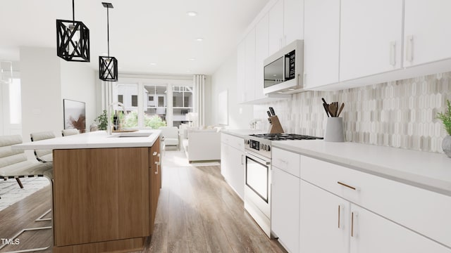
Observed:
[[[183,137],[183,149],[190,163],[221,160],[221,133],[218,129],[187,129]]]

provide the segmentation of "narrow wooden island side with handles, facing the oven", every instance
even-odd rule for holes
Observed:
[[[161,153],[160,140],[156,140],[152,148],[149,148],[149,197],[150,197],[150,234],[154,231],[154,223],[156,217],[156,206],[158,205],[158,198],[161,188]]]

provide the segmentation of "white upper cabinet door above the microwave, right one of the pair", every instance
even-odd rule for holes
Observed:
[[[304,0],[283,1],[283,45],[304,36]]]

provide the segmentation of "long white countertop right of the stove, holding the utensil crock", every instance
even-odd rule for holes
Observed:
[[[444,154],[323,140],[272,141],[271,144],[273,148],[451,196],[451,158]]]

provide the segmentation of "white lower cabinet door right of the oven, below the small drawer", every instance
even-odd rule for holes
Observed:
[[[288,252],[299,252],[299,181],[273,167],[271,229]]]

